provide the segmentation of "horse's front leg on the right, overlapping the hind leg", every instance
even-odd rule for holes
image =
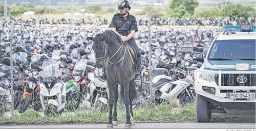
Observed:
[[[124,103],[126,106],[126,126],[125,128],[131,128],[131,123],[130,123],[130,113],[129,113],[129,82],[123,84],[124,88]]]

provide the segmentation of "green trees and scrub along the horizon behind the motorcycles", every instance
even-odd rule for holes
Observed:
[[[167,7],[145,7],[142,11],[132,12],[133,15],[146,15],[151,18],[160,17],[173,17],[173,18],[183,18],[183,19],[195,19],[195,18],[240,18],[244,17],[247,19],[249,16],[249,11],[253,11],[253,17],[256,16],[256,9],[252,6],[244,6],[241,4],[235,4],[232,2],[225,2],[217,7],[210,7],[206,9],[196,9],[199,2],[197,0],[172,0]],[[3,16],[3,5],[0,6],[0,16]],[[81,12],[81,7],[74,7],[74,11]],[[64,8],[51,8],[51,14],[64,14],[71,12],[71,6]],[[35,7],[33,5],[26,6],[16,6],[9,7],[9,16],[19,16],[27,11],[35,11],[36,15],[48,14],[48,7]],[[118,12],[117,8],[102,8],[99,5],[85,7],[85,12],[91,12],[96,15],[113,14]]]

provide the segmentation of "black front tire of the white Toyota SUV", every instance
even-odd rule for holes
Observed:
[[[197,122],[210,122],[212,112],[208,108],[209,102],[200,94],[196,94],[196,118]]]

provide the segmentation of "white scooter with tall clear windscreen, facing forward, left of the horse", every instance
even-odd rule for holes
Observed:
[[[39,73],[40,101],[44,114],[62,113],[66,103],[66,89],[61,81],[62,72],[56,60],[45,59]]]

